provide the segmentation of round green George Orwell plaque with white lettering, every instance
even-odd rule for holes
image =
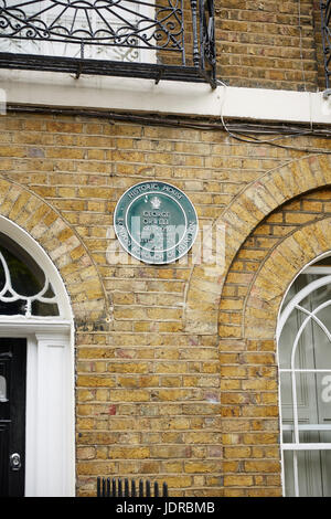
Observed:
[[[145,263],[175,262],[193,245],[197,216],[185,193],[166,182],[140,182],[119,199],[116,235],[129,254]]]

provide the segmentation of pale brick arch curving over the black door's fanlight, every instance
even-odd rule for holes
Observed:
[[[68,292],[77,327],[105,327],[107,298],[99,273],[68,223],[26,188],[0,179],[0,214],[25,230],[47,253]]]

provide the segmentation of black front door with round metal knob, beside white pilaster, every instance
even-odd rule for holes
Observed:
[[[26,340],[0,338],[0,497],[24,496]]]

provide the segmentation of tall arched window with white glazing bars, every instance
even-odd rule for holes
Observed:
[[[331,257],[289,288],[277,328],[286,496],[331,496]]]

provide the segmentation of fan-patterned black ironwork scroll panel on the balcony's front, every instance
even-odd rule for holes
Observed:
[[[180,0],[1,0],[1,36],[66,44],[182,50]]]

